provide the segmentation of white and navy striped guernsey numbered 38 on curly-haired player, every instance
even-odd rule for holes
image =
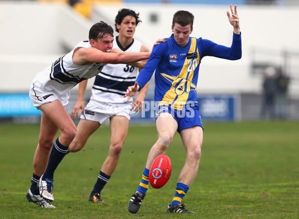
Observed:
[[[140,52],[141,50],[142,43],[138,40],[133,39],[130,45],[123,48],[118,41],[118,36],[114,38],[114,48],[125,52]],[[103,106],[107,103],[116,105],[126,103],[127,98],[124,98],[124,95],[128,86],[134,85],[138,72],[138,68],[126,64],[107,64],[95,78],[89,104],[96,106],[97,112],[102,113]]]

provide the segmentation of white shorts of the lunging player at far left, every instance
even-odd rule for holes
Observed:
[[[33,102],[33,106],[39,107],[42,104],[53,102],[54,100],[60,100],[62,105],[65,107],[68,104],[68,99],[70,98],[70,92],[63,95],[58,95],[55,91],[43,91],[39,82],[35,81],[31,83],[29,96]]]

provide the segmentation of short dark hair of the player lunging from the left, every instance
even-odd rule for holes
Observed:
[[[104,21],[95,23],[89,30],[89,41],[98,40],[107,35],[113,36],[113,28]]]

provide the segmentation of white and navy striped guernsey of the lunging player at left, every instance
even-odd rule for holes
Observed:
[[[32,82],[38,82],[44,91],[54,91],[58,95],[63,95],[82,80],[101,72],[106,64],[93,63],[88,66],[77,66],[73,63],[74,50],[79,47],[89,48],[91,45],[89,41],[79,42],[71,52],[57,59],[42,72],[37,73]]]

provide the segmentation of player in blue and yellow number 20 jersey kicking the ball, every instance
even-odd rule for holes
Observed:
[[[213,43],[210,40],[190,37],[194,16],[189,11],[179,10],[173,15],[172,32],[166,42],[155,46],[146,66],[138,75],[135,85],[127,89],[128,100],[143,88],[155,71],[154,100],[158,140],[151,147],[142,180],[129,201],[129,212],[139,211],[149,187],[149,169],[152,161],[165,153],[176,132],[181,136],[186,149],[186,161],[178,177],[172,202],[166,212],[194,213],[181,203],[193,182],[201,156],[203,126],[197,104],[196,85],[201,59],[214,56],[238,60],[242,56],[241,32],[237,5],[230,5],[227,11],[233,26],[231,47]]]

